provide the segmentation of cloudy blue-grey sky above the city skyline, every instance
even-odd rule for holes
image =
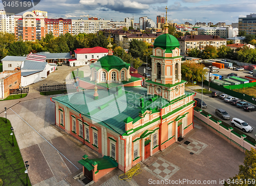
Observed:
[[[248,0],[41,0],[29,10],[47,11],[48,18],[79,19],[84,16],[83,19],[87,19],[89,15],[104,20],[124,21],[125,17],[134,17],[135,22],[139,23],[142,16],[156,22],[157,15],[165,14],[166,6],[168,20],[178,24],[186,21],[192,24],[195,21],[231,24],[238,22],[239,17],[256,13],[256,4]],[[0,9],[4,10],[2,2]]]

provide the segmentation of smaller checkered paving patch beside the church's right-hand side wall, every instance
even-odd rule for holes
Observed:
[[[190,152],[194,152],[195,154],[200,154],[208,146],[205,143],[199,142],[192,138],[188,138],[187,141],[190,142],[188,145],[183,143],[182,145],[179,145],[179,147],[184,148]]]

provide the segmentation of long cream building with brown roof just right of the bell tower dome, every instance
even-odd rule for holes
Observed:
[[[180,51],[186,54],[190,48],[199,48],[203,50],[206,45],[212,45],[219,47],[221,45],[227,45],[227,40],[220,38],[219,36],[212,35],[186,35],[178,38],[180,43]]]

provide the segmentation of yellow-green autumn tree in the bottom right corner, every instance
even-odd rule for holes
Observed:
[[[227,183],[225,181],[224,185],[254,186],[255,177],[256,177],[256,150],[254,148],[251,148],[250,151],[246,150],[245,152],[244,165],[239,166],[238,175],[232,178],[229,178],[230,183]],[[240,182],[241,180],[242,182]],[[245,180],[246,180],[246,183],[245,183]],[[252,182],[252,180],[254,181]]]

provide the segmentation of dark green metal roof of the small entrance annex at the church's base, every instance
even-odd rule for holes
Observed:
[[[103,156],[102,158],[96,158],[96,159],[88,159],[86,158],[86,160],[80,160],[78,161],[79,164],[81,164],[82,166],[84,166],[84,168],[86,168],[87,170],[91,171],[94,169],[93,165],[97,165],[97,170],[103,170],[103,169],[109,169],[109,168],[114,168],[118,166],[118,163],[114,160],[112,160],[112,158],[110,156]]]

